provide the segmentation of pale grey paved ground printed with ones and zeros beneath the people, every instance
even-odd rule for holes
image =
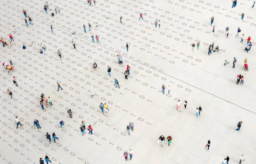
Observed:
[[[42,0],[0,3],[1,37],[9,40],[12,25],[18,27],[13,46],[0,46],[1,63],[13,60],[15,67],[10,73],[2,67],[0,73],[0,163],[38,164],[48,154],[59,164],[122,164],[123,152],[131,148],[134,164],[219,164],[227,155],[238,163],[241,154],[244,163],[256,164],[255,48],[244,52],[246,42],[235,37],[240,27],[245,39],[250,35],[256,45],[256,9],[251,8],[251,1],[239,0],[235,8],[229,0],[100,0],[90,7],[81,0],[48,2],[50,9],[58,6],[61,13],[45,14]],[[22,8],[33,18],[33,26],[26,27]],[[140,12],[146,15],[139,21]],[[156,19],[161,20],[161,28],[154,27]],[[82,25],[88,31],[88,22],[92,30],[84,33]],[[224,36],[227,26],[229,39]],[[92,43],[91,35],[99,35],[100,42]],[[72,49],[72,39],[77,50]],[[201,42],[199,50],[192,52],[190,44],[197,41]],[[212,42],[221,52],[209,56]],[[44,55],[37,52],[40,43],[47,46]],[[27,52],[22,51],[22,44],[27,45]],[[124,58],[123,65],[117,62],[118,54]],[[233,57],[238,61],[235,69]],[[248,72],[243,70],[245,57]],[[230,63],[224,67],[225,60]],[[97,70],[92,69],[93,62]],[[123,75],[126,65],[131,66],[128,80]],[[107,66],[112,67],[111,77]],[[243,85],[235,84],[237,74],[245,76]],[[13,76],[19,87],[12,84]],[[120,89],[113,86],[114,78]],[[57,81],[64,90],[56,91]],[[162,84],[170,86],[170,94],[161,93]],[[8,88],[13,99],[6,95]],[[54,103],[46,112],[39,104],[42,92]],[[90,92],[95,93],[93,99]],[[186,111],[182,106],[182,112],[177,112],[178,99],[188,101]],[[100,102],[109,105],[108,114],[100,112]],[[203,112],[196,118],[199,105]],[[72,119],[67,109],[74,111]],[[18,129],[17,115],[24,124]],[[41,124],[39,131],[34,119]],[[62,129],[61,120],[65,122]],[[82,120],[93,125],[93,135],[81,136]],[[241,120],[241,131],[236,132]],[[128,136],[130,121],[134,131]],[[56,144],[49,144],[46,132],[57,134]],[[157,144],[161,134],[172,136],[169,147],[167,142],[164,147]],[[208,139],[207,152],[203,147]]]

